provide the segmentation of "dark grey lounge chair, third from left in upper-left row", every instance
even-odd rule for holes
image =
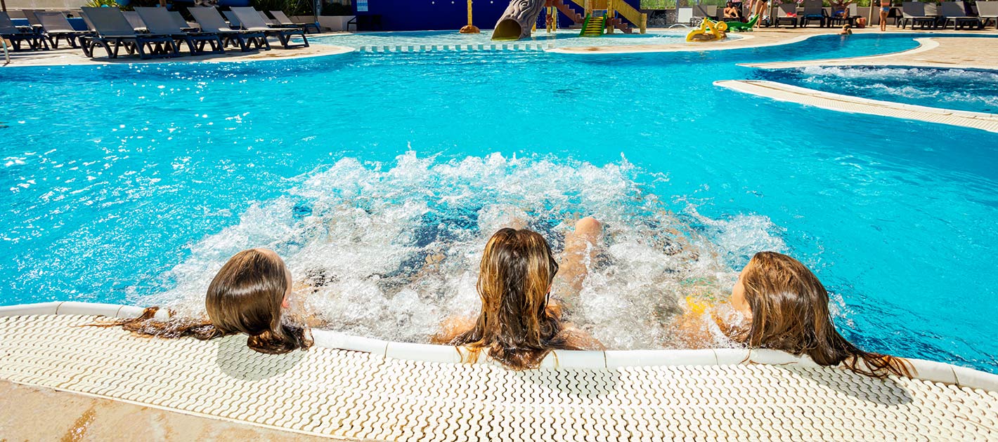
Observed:
[[[97,30],[97,37],[81,39],[83,53],[94,58],[98,45],[108,53],[108,58],[117,59],[121,48],[129,55],[139,53],[139,58],[175,57],[180,54],[174,38],[169,35],[136,34],[132,24],[118,8],[83,8],[83,16]],[[114,44],[112,50],[111,45]]]

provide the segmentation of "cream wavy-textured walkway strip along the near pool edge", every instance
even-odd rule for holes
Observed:
[[[0,319],[0,378],[344,439],[998,440],[998,392],[920,379],[795,364],[516,372],[325,347],[266,355],[246,336],[144,338],[86,327],[96,320]]]

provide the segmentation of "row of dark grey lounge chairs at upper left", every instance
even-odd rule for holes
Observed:
[[[183,44],[191,55],[221,54],[230,46],[239,47],[243,52],[269,50],[268,37],[277,38],[285,49],[307,47],[305,30],[309,27],[318,30],[314,24],[291,23],[279,11],[271,12],[275,19],[267,19],[251,7],[234,7],[226,11],[231,24],[226,23],[219,10],[211,7],[189,9],[197,23],[188,23],[179,12],[166,8],[139,7],[135,11],[122,12],[118,8],[85,7],[82,15],[90,31],[74,29],[61,12],[24,12],[32,26],[16,27],[6,13],[0,13],[0,34],[11,41],[15,51],[23,50],[24,44],[30,50],[47,50],[50,45],[58,48],[65,40],[74,48],[82,48],[91,58],[95,57],[94,50],[98,47],[103,48],[109,58],[117,58],[125,49],[142,59],[181,56]],[[281,22],[292,26],[281,26]],[[295,36],[301,43],[292,43]]]

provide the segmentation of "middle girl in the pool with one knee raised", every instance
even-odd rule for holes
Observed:
[[[566,238],[561,274],[566,306],[582,289],[587,260],[593,259],[600,230],[598,221],[583,218]],[[470,350],[467,362],[476,361],[484,349],[513,369],[537,367],[552,349],[601,348],[599,341],[562,322],[562,305],[551,299],[558,270],[551,248],[539,233],[500,229],[485,245],[479,265],[481,313],[474,321],[446,321],[433,342],[465,345]]]

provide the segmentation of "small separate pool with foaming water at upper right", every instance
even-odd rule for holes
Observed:
[[[873,100],[998,113],[998,73],[968,69],[808,67],[760,71],[759,77]]]

